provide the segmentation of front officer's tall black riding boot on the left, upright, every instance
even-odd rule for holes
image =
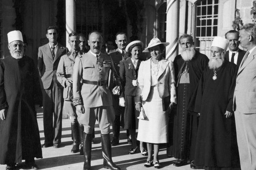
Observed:
[[[91,170],[92,134],[87,134],[84,132],[83,149],[84,149],[84,170]]]

